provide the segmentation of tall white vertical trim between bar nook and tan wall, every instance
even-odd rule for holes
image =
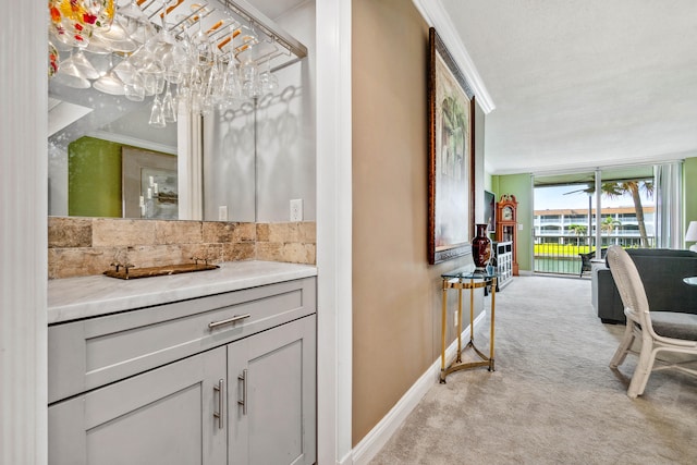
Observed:
[[[351,2],[316,2],[317,463],[352,446]]]

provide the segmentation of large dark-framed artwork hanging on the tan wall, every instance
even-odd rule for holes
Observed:
[[[429,29],[428,261],[472,253],[474,224],[474,93]]]

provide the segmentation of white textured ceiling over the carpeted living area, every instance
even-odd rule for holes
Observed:
[[[694,0],[431,1],[496,107],[490,173],[697,156]]]

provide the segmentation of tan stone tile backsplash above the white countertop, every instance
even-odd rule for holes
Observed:
[[[49,217],[48,278],[101,274],[114,261],[138,268],[268,260],[314,265],[315,222],[236,223]]]

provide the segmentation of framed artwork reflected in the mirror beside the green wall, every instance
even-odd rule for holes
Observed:
[[[123,217],[176,220],[176,157],[123,147],[121,162]]]

